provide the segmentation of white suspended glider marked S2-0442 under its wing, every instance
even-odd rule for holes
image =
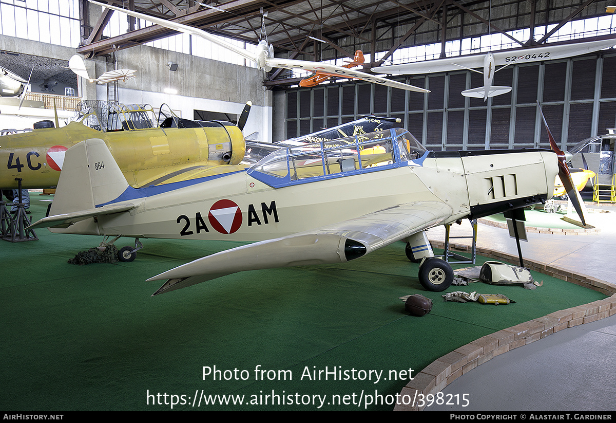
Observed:
[[[484,74],[484,86],[462,91],[466,97],[477,97],[487,100],[488,97],[500,96],[511,91],[511,87],[492,86],[494,73],[511,64],[543,62],[545,60],[565,59],[575,55],[599,51],[616,45],[616,40],[588,41],[572,44],[543,44],[527,49],[509,49],[487,54],[471,54],[448,57],[446,59],[424,60],[400,65],[375,67],[372,70],[379,73],[402,73],[416,75],[423,73],[451,72],[460,68]],[[497,66],[500,68],[496,69]],[[483,72],[475,68],[483,67]]]

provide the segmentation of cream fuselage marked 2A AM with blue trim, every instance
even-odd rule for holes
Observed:
[[[382,170],[370,165],[326,177],[317,172],[322,163],[312,166],[306,160],[302,164],[317,173],[306,172],[304,178],[278,187],[264,183],[270,175],[251,169],[184,187],[128,189],[113,203],[136,205],[129,212],[100,215],[52,231],[254,242],[407,203],[442,203],[451,208],[443,223],[451,223],[551,196],[557,164],[548,150],[452,153],[431,152],[421,160],[390,163]]]

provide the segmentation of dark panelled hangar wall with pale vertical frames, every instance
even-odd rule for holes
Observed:
[[[509,66],[496,73],[494,84],[513,89],[487,102],[460,94],[483,84],[482,75],[466,70],[406,80],[429,94],[369,83],[291,89],[285,94],[286,138],[375,114],[401,118],[400,126],[433,150],[547,148],[535,104],[540,99],[554,137],[567,149],[616,126],[615,68],[616,53]]]

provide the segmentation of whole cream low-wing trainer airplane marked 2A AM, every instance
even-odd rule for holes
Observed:
[[[280,149],[248,170],[139,189],[105,142],[88,139],[68,150],[49,217],[32,227],[254,242],[151,277],[166,280],[154,295],[239,271],[345,263],[399,240],[407,240],[409,257],[422,259],[421,284],[439,291],[453,271],[434,258],[426,229],[545,202],[559,173],[575,190],[564,153],[549,138],[556,154],[430,152],[405,129],[389,129]]]

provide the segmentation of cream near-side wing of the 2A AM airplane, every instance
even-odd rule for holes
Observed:
[[[346,263],[416,232],[443,224],[452,208],[415,202],[277,239],[242,245],[150,277],[168,279],[153,295],[240,271]]]

